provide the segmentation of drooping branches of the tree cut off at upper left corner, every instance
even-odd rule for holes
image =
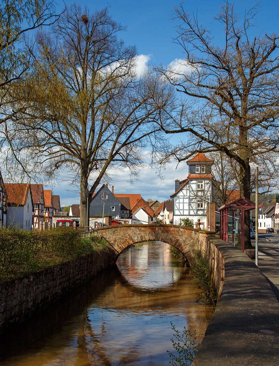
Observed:
[[[30,53],[24,49],[24,37],[59,18],[52,0],[4,0],[0,6],[0,124],[15,116],[10,108],[14,100],[12,84],[22,78],[30,66]]]

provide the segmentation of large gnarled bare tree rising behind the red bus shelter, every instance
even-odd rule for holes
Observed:
[[[241,20],[233,4],[222,5],[214,21],[223,26],[223,40],[216,45],[214,31],[200,25],[182,4],[176,6],[174,42],[185,58],[177,70],[161,70],[184,96],[177,115],[161,122],[167,134],[187,134],[188,141],[174,147],[173,156],[182,161],[197,152],[225,153],[238,164],[240,195],[248,199],[251,161],[274,168],[279,142],[279,37],[252,35],[257,10],[252,8]],[[220,37],[219,29],[215,33]],[[250,243],[248,212],[245,242]]]

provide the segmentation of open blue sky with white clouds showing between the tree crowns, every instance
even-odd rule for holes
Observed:
[[[209,29],[218,29],[217,23],[212,23],[213,16],[219,11],[220,5],[224,1],[185,1],[184,10],[189,13],[197,13],[200,23],[205,23]],[[171,41],[174,37],[175,22],[171,22],[170,13],[176,1],[79,1],[81,5],[87,5],[94,10],[95,7],[101,8],[110,5],[110,14],[114,20],[122,25],[127,25],[128,29],[121,34],[121,38],[127,43],[136,45],[139,55],[149,57],[150,62],[167,66],[175,59],[181,59],[181,47]],[[243,17],[245,9],[251,8],[256,1],[235,0],[235,10]],[[66,1],[71,4],[71,1]],[[57,1],[57,10],[63,6],[62,1]],[[255,34],[278,32],[279,24],[279,1],[265,0],[261,4],[261,9],[256,17],[257,27],[252,30]],[[215,42],[222,42],[222,32],[218,29]],[[182,135],[173,137],[172,140],[183,138]],[[163,180],[158,178],[156,170],[144,169],[140,179],[135,184],[127,183],[125,171],[120,171],[113,182],[115,193],[140,193],[143,198],[154,198],[161,202],[168,199],[174,193],[174,180],[183,179],[188,175],[186,164],[170,164],[163,172]],[[79,203],[78,188],[69,187],[67,182],[60,180],[53,186],[54,194],[60,195],[61,205]]]

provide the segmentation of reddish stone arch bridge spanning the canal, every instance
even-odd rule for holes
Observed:
[[[148,240],[159,240],[173,245],[191,260],[200,249],[200,234],[208,234],[199,229],[157,224],[104,226],[95,228],[94,232],[109,242],[115,252],[115,261],[122,250],[131,244]]]

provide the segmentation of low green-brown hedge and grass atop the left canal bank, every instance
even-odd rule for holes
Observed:
[[[78,230],[57,228],[45,231],[0,229],[0,281],[45,269],[75,257],[108,247],[93,235],[83,239]]]

